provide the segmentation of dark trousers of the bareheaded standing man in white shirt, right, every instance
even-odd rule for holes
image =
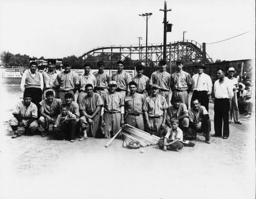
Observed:
[[[222,136],[222,121],[223,121],[223,136],[229,136],[228,112],[229,99],[214,100],[214,131],[216,136]]]

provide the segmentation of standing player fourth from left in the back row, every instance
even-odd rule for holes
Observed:
[[[83,98],[87,95],[85,91],[85,85],[92,84],[92,89],[94,89],[94,87],[97,86],[95,76],[90,74],[90,64],[84,63],[83,68],[84,75],[79,76],[79,94],[76,101],[79,104],[79,106],[81,105]]]

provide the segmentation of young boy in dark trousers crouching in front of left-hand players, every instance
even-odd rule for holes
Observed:
[[[70,139],[74,142],[76,139],[76,115],[68,111],[68,105],[60,106],[61,114],[58,115],[53,134],[58,140]]]

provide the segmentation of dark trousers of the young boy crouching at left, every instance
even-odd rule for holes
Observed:
[[[76,121],[71,120],[69,123],[61,124],[53,129],[56,139],[76,139]]]

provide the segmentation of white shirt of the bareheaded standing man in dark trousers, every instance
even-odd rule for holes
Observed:
[[[220,84],[219,79],[214,83],[214,95],[216,99],[233,98],[233,87],[228,83],[227,79],[228,77],[224,77],[222,84]]]

